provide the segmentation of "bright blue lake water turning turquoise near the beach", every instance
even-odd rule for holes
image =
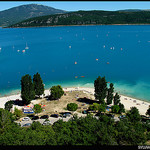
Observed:
[[[45,88],[93,87],[100,75],[121,94],[150,101],[149,25],[0,28],[0,47],[0,96],[39,72]]]

